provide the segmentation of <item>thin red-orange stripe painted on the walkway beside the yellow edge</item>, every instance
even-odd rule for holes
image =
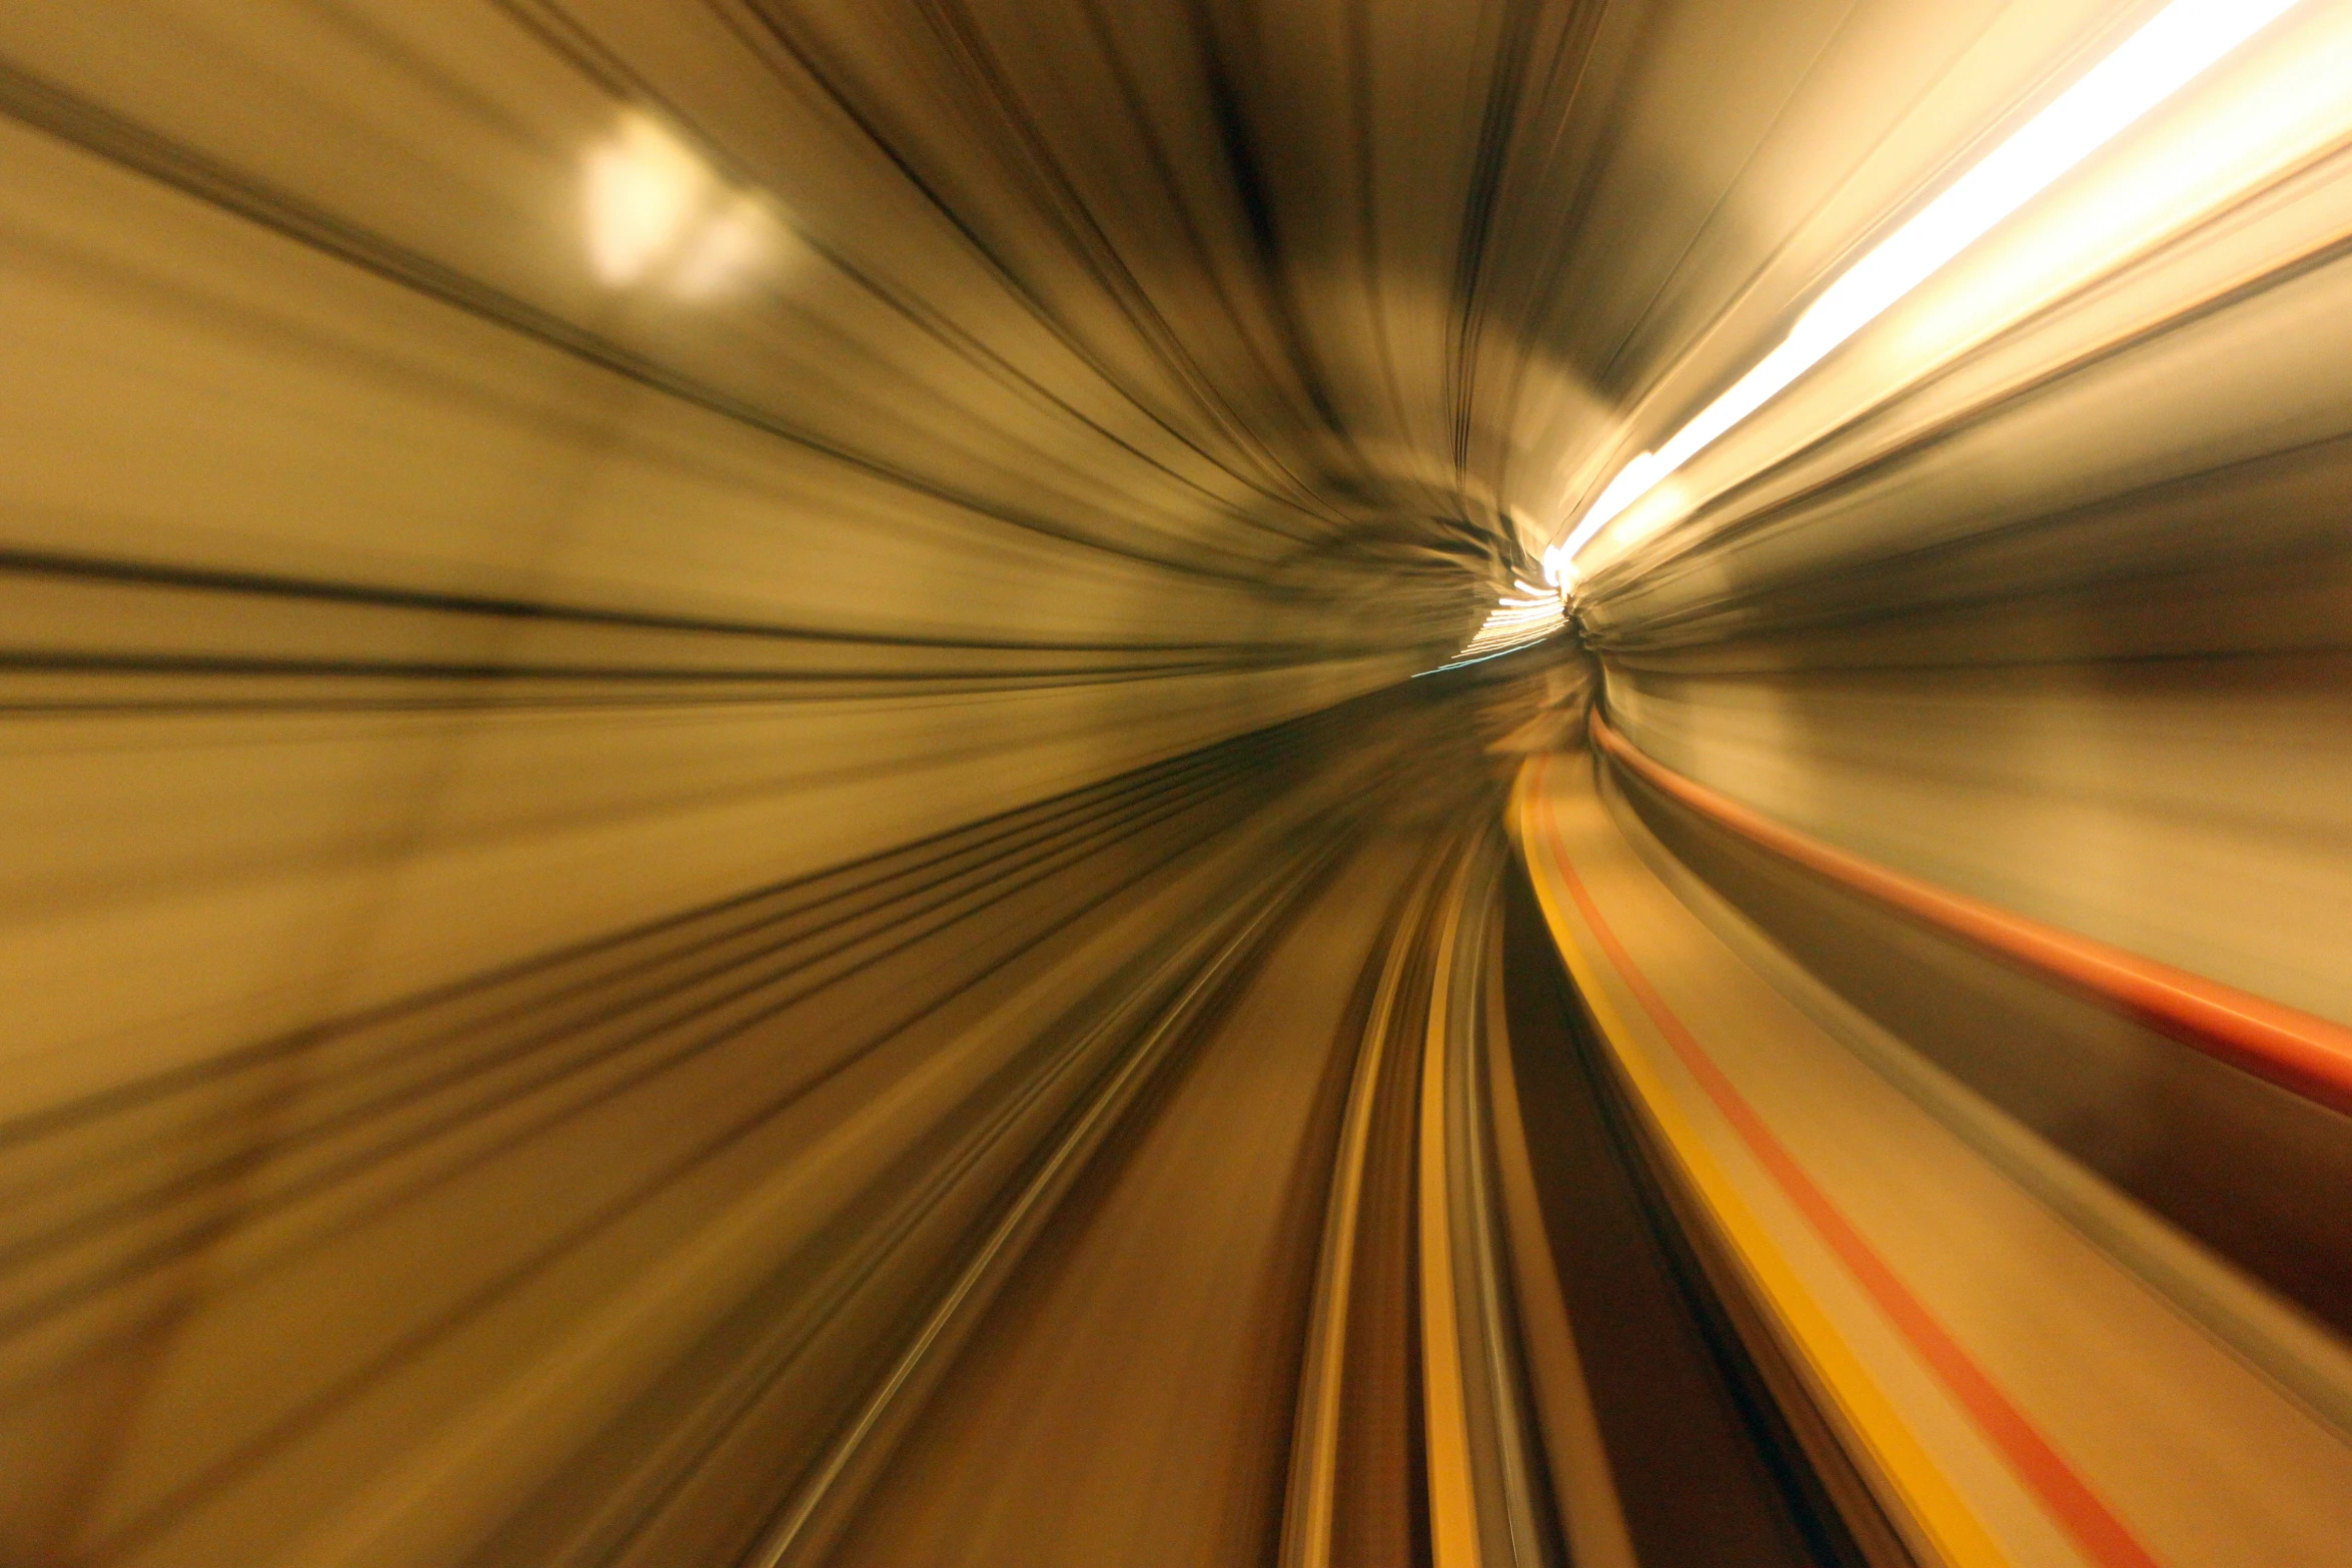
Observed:
[[[1992,1441],[2018,1479],[2042,1500],[2058,1526],[2074,1537],[2074,1544],[2084,1554],[2103,1563],[2103,1568],[2157,1568],[2154,1554],[2140,1544],[2140,1540],[2117,1519],[2098,1493],[2074,1474],[2074,1467],[2065,1462],[2046,1436],[2018,1410],[2016,1403],[1992,1382],[1992,1378],[1980,1368],[1959,1340],[1936,1321],[1936,1314],[1910,1293],[1910,1286],[1886,1260],[1879,1258],[1877,1248],[1863,1239],[1853,1222],[1839,1213],[1837,1204],[1830,1201],[1813,1178],[1797,1164],[1788,1147],[1773,1135],[1764,1119],[1748,1105],[1748,1098],[1724,1077],[1724,1070],[1715,1065],[1715,1058],[1705,1053],[1691,1030],[1675,1016],[1675,1009],[1665,1004],[1665,997],[1649,983],[1642,966],[1632,961],[1625,945],[1618,943],[1616,931],[1602,917],[1599,905],[1592,903],[1592,893],[1585,891],[1583,879],[1576,875],[1569,860],[1566,846],[1559,842],[1559,832],[1552,832],[1552,860],[1559,870],[1562,884],[1566,884],[1569,896],[1576,900],[1578,912],[1599,940],[1602,952],[1616,966],[1625,987],[1649,1013],[1651,1023],[1682,1058],[1682,1065],[1698,1079],[1715,1110],[1724,1114],[1731,1128],[1740,1135],[1740,1143],[1757,1157],[1757,1164],[1771,1173],[1780,1185],[1780,1192],[1797,1206],[1797,1213],[1806,1218],[1813,1232],[1837,1253],[1870,1300],[1893,1321],[1896,1331],[1910,1340],[1919,1359],[1936,1373],[1945,1389],[1959,1401],[1959,1406],[1976,1420],[1978,1429]]]

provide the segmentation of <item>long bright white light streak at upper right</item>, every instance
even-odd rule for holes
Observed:
[[[1639,454],[1602,489],[1576,529],[1543,552],[1543,576],[1569,588],[1571,562],[1609,522],[1715,437],[1809,371],[1943,263],[2046,190],[2209,66],[2293,9],[2298,0],[2173,0],[2107,59],[2067,87],[2009,141],[1962,174],[1879,242],[1797,317],[1788,339],[1656,451]]]

